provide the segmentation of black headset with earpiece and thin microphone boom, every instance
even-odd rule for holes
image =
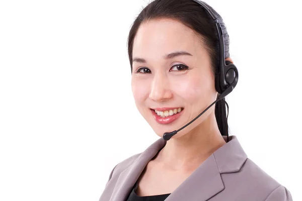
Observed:
[[[217,103],[219,100],[221,100],[223,97],[228,95],[233,91],[235,86],[238,82],[238,69],[237,67],[231,62],[226,60],[224,58],[224,39],[223,39],[223,32],[221,29],[221,25],[218,22],[218,19],[215,17],[215,15],[212,13],[212,11],[201,1],[193,0],[194,2],[201,5],[210,15],[210,17],[213,19],[217,36],[219,40],[219,67],[218,72],[215,74],[215,89],[220,94],[217,99],[209,106],[207,107],[201,114],[199,114],[196,118],[194,118],[191,122],[183,126],[182,128],[173,131],[173,132],[166,132],[163,135],[163,139],[168,141],[172,136],[177,134],[180,130],[186,128],[188,125],[190,125],[192,122],[194,122],[198,117],[200,117],[203,113],[205,113],[212,105]],[[226,106],[228,104],[225,102]],[[228,116],[229,116],[229,106],[228,106]],[[228,116],[226,117],[226,120],[228,120]],[[229,142],[229,135],[228,135],[228,142]]]

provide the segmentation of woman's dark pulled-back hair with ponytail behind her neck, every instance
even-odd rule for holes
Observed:
[[[206,4],[206,3],[204,3]],[[225,58],[229,53],[229,34],[220,15],[208,4],[208,8],[218,19],[223,32]],[[212,73],[217,73],[219,65],[219,43],[214,21],[207,11],[192,0],[155,0],[149,3],[137,16],[132,24],[128,36],[128,56],[132,73],[132,50],[133,41],[139,26],[149,20],[172,19],[179,21],[195,31],[210,55]],[[228,64],[229,61],[226,61]],[[218,93],[218,96],[220,94]],[[222,98],[215,104],[215,117],[222,136],[229,136],[228,118],[225,111],[225,99]],[[229,109],[229,107],[228,107]]]

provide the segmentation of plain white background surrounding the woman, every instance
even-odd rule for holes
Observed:
[[[231,135],[302,200],[300,3],[205,2],[239,69]],[[112,168],[159,138],[135,107],[126,46],[147,3],[0,2],[0,200],[98,200]]]

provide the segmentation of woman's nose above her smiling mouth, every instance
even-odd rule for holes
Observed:
[[[149,93],[149,98],[153,99],[155,102],[162,102],[167,99],[171,99],[173,93],[170,89],[170,83],[166,76],[156,75],[152,80],[151,90]]]

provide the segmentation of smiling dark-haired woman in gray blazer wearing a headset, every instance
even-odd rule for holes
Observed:
[[[194,0],[155,0],[134,21],[128,38],[132,92],[138,111],[161,138],[113,168],[100,201],[292,200],[229,136],[227,93],[220,94],[216,76],[220,66],[226,69],[220,57],[233,64],[229,35],[221,17],[203,5],[218,19],[223,40]],[[238,80],[233,67],[228,93]]]

